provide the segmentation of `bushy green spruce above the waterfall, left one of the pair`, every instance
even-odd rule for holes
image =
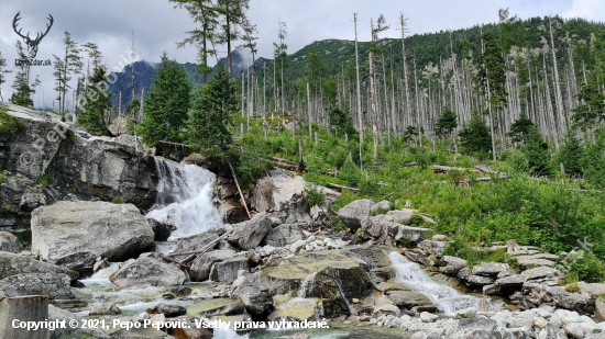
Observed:
[[[155,147],[160,142],[183,140],[182,129],[189,111],[189,91],[185,68],[176,60],[168,60],[164,52],[145,99],[143,123],[138,129],[145,144]]]

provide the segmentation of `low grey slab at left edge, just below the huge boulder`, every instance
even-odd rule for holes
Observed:
[[[78,274],[65,268],[32,259],[30,257],[0,251],[0,279],[20,273],[67,274],[75,281]]]

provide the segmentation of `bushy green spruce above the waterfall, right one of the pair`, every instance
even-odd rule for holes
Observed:
[[[212,156],[223,156],[232,140],[238,98],[235,84],[222,63],[208,84],[198,84],[195,94],[187,126],[188,143]]]

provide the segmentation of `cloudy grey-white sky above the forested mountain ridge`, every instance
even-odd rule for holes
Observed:
[[[257,24],[260,56],[271,57],[273,42],[277,41],[278,21],[288,26],[288,53],[295,53],[309,43],[326,38],[353,39],[352,13],[359,12],[360,39],[370,38],[370,19],[384,14],[392,29],[384,37],[398,37],[396,22],[399,12],[409,18],[413,34],[469,27],[497,21],[499,8],[509,8],[520,18],[559,14],[581,16],[605,22],[604,0],[250,0],[250,21]],[[46,29],[48,13],[54,25],[42,41],[36,59],[53,59],[61,54],[63,32],[72,33],[81,44],[97,43],[110,69],[120,69],[127,49],[132,44],[141,59],[158,61],[166,50],[180,63],[195,63],[194,47],[176,49],[175,42],[194,29],[185,10],[174,9],[168,0],[0,0],[0,52],[14,65],[14,44],[20,38],[12,29],[14,15],[23,33]],[[220,52],[226,48],[219,47]],[[122,63],[122,65],[120,65]],[[40,75],[42,88],[34,95],[36,106],[51,105],[53,91],[52,67],[33,67]],[[12,75],[2,84],[2,97],[8,100]]]

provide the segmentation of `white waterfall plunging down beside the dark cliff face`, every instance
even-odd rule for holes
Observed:
[[[157,200],[146,217],[176,226],[172,238],[193,236],[222,226],[212,204],[215,174],[195,165],[155,158],[160,174]]]

